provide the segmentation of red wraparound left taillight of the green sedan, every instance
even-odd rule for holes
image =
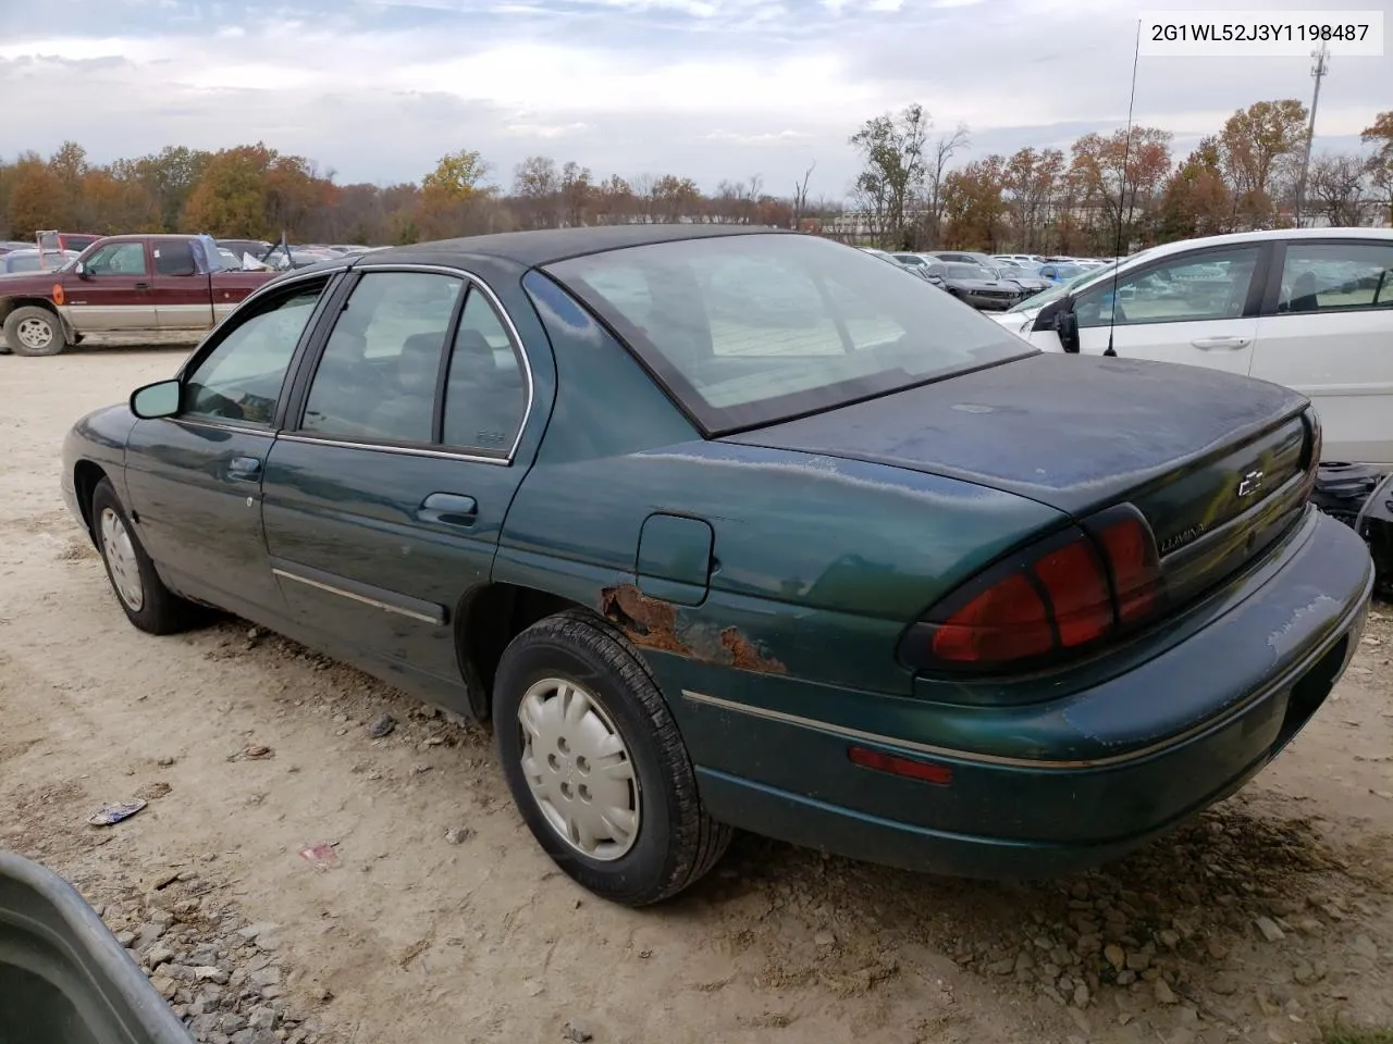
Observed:
[[[1156,539],[1121,505],[997,562],[905,632],[921,670],[1028,668],[1155,618],[1165,607]]]

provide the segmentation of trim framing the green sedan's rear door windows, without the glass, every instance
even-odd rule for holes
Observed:
[[[375,441],[368,438],[350,438],[344,436],[325,436],[315,432],[306,432],[304,429],[305,422],[305,405],[309,400],[309,387],[313,383],[315,373],[319,370],[319,361],[323,358],[325,347],[329,342],[329,337],[333,333],[333,326],[325,322],[325,316],[320,315],[316,322],[316,337],[313,342],[308,347],[304,356],[295,361],[297,365],[297,381],[293,388],[291,398],[294,400],[293,413],[287,412],[280,425],[280,438],[291,443],[306,443],[316,445],[334,445],[347,450],[375,450],[379,452],[393,452],[407,457],[435,457],[451,461],[472,461],[478,464],[493,464],[501,468],[508,468],[517,459],[518,447],[522,444],[522,436],[527,433],[528,422],[532,419],[532,409],[536,402],[536,379],[532,373],[532,359],[528,355],[527,345],[522,342],[522,335],[518,333],[517,324],[513,322],[513,316],[508,315],[507,308],[503,306],[503,301],[493,291],[493,288],[478,274],[469,271],[468,269],[456,264],[412,264],[405,262],[380,262],[376,264],[355,264],[352,267],[354,278],[344,280],[344,287],[337,295],[336,312],[341,312],[343,306],[348,302],[352,290],[358,285],[359,278],[368,273],[387,273],[387,271],[411,271],[411,273],[426,273],[435,276],[450,276],[460,278],[464,283],[462,292],[454,302],[454,310],[450,316],[450,324],[446,327],[444,345],[442,347],[442,373],[444,366],[449,365],[450,355],[454,347],[454,338],[460,330],[460,322],[464,317],[464,305],[469,298],[469,294],[475,290],[481,291],[493,310],[503,320],[504,333],[508,335],[513,349],[522,359],[522,374],[527,381],[527,404],[522,406],[522,420],[518,423],[518,430],[513,436],[513,444],[506,452],[489,454],[488,450],[481,450],[478,447],[465,450],[462,447],[449,447],[444,441],[436,437],[432,443],[407,443],[407,441]],[[446,351],[450,349],[450,351]],[[302,379],[301,379],[302,377]],[[436,430],[442,430],[444,425],[444,409],[443,409],[444,384],[440,376],[436,377],[436,405],[437,413],[432,418],[432,434]],[[439,422],[439,429],[435,425]]]

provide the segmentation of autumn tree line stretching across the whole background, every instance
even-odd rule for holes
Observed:
[[[809,198],[812,164],[788,191],[761,175],[702,192],[680,174],[598,178],[575,161],[531,156],[511,177],[461,149],[418,182],[338,184],[305,156],[265,143],[217,152],[169,146],[93,163],[77,142],[0,160],[0,238],[43,228],[114,234],[202,231],[298,242],[405,244],[454,235],[628,221],[801,227],[903,249],[1110,255],[1165,239],[1321,217],[1393,221],[1393,111],[1361,153],[1318,155],[1301,182],[1307,109],[1256,102],[1184,159],[1153,127],[1085,134],[1064,149],[1025,148],[954,166],[967,127],[933,134],[922,106],[866,120],[848,143],[861,171],[846,192]],[[1298,210],[1301,213],[1298,213]]]

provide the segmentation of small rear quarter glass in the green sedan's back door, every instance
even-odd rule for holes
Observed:
[[[493,305],[471,290],[450,351],[446,445],[508,452],[527,413],[525,369]]]

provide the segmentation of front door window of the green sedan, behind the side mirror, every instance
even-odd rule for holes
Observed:
[[[181,416],[272,427],[286,370],[327,280],[297,287],[247,316],[194,367],[184,381]]]

